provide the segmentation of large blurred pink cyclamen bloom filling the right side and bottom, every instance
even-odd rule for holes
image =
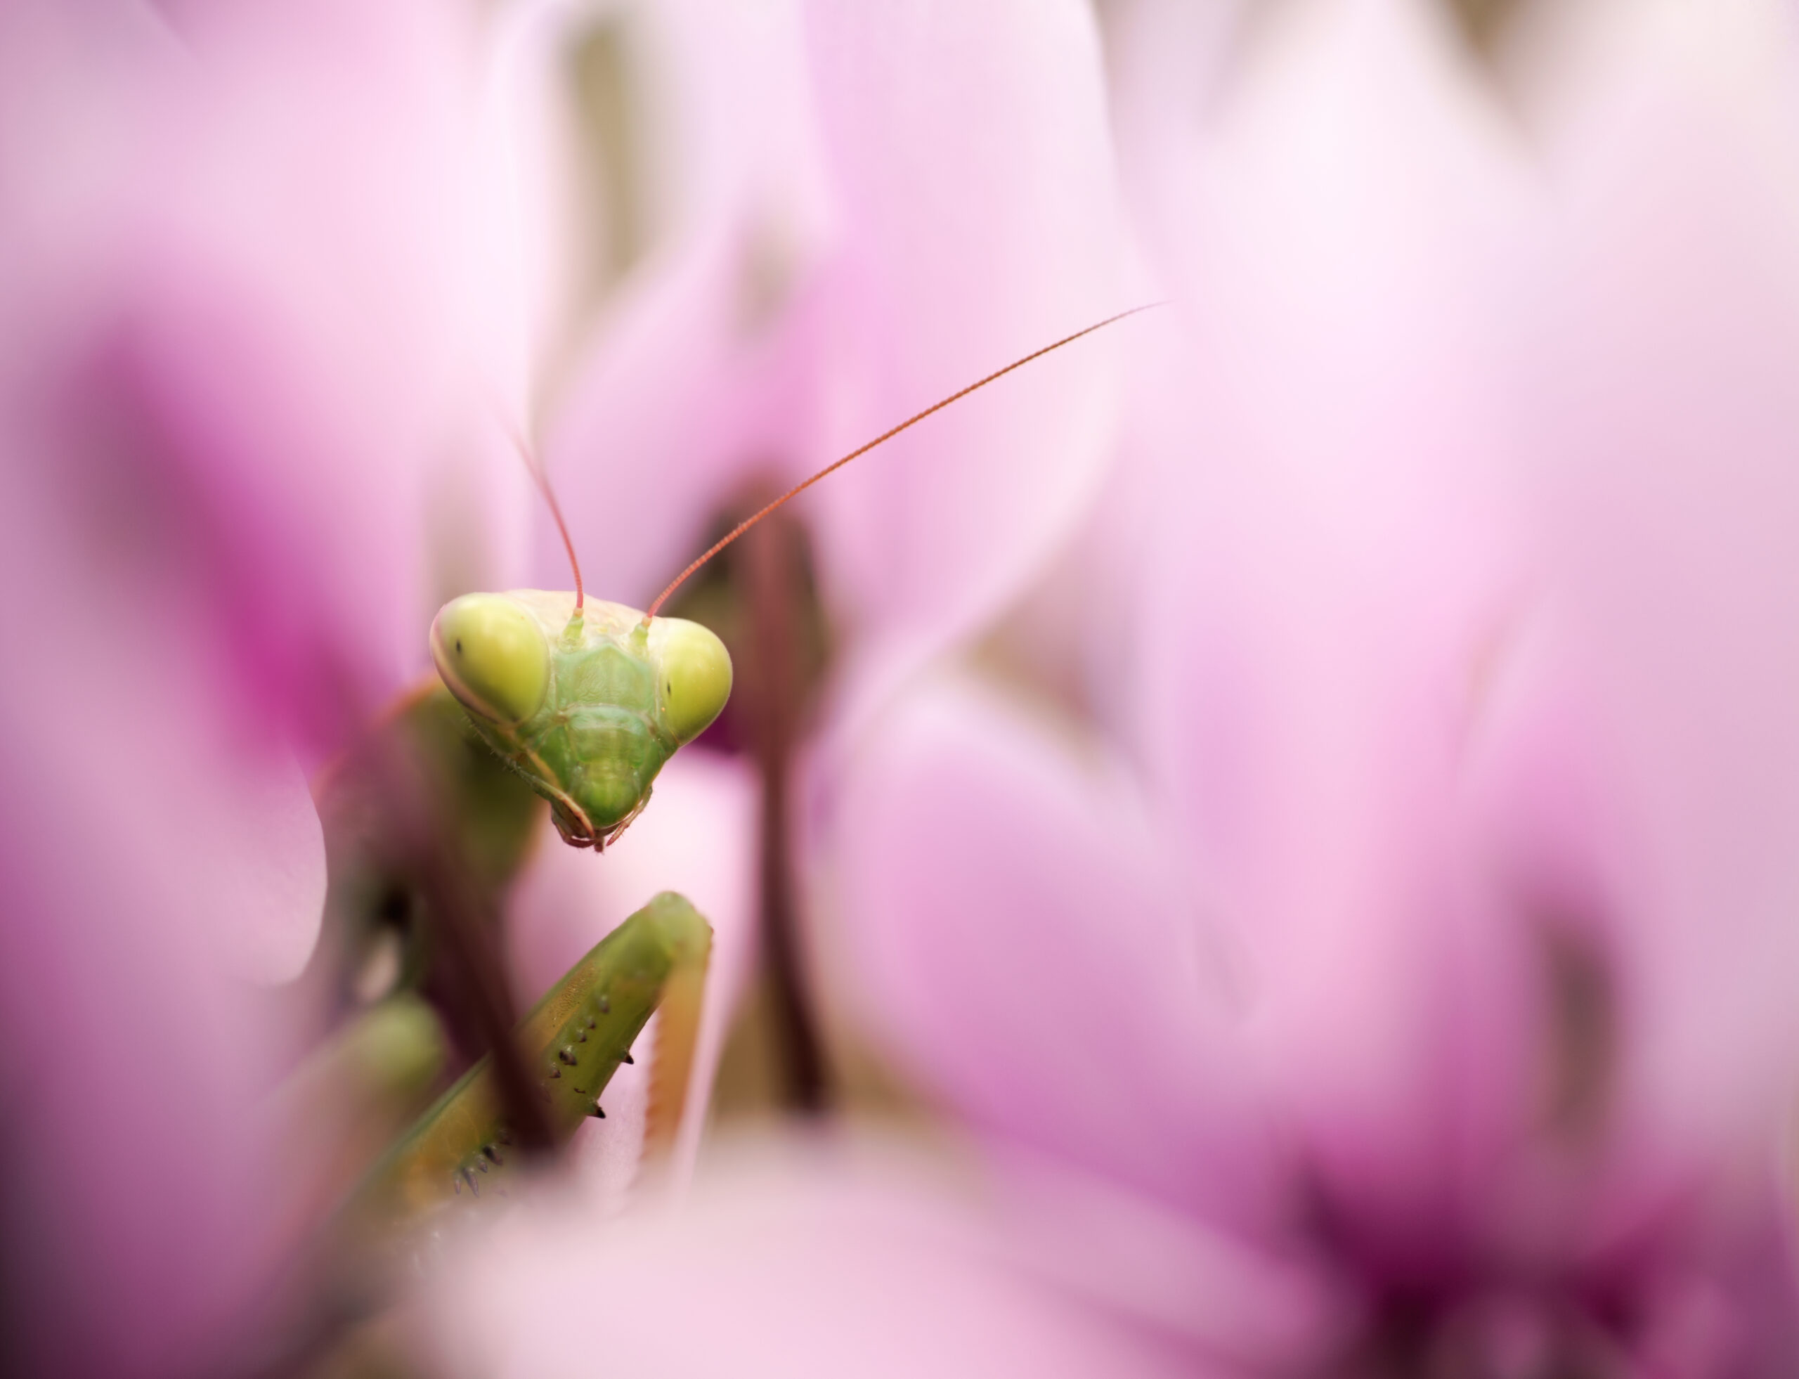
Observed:
[[[1666,22],[1535,149],[1409,0],[1159,131],[1178,317],[1056,605],[1106,733],[939,668],[828,832],[980,1167],[522,1222],[484,1372],[1794,1368],[1794,45]]]

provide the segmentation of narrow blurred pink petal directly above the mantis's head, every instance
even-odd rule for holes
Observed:
[[[669,4],[646,23],[678,112],[655,149],[669,223],[597,322],[545,446],[594,587],[640,603],[738,484],[819,450],[810,302],[829,247],[797,7]]]

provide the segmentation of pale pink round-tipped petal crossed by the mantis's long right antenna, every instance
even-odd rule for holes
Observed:
[[[844,218],[833,448],[1135,304],[1087,7],[824,5],[810,45]],[[1016,598],[1099,479],[1112,362],[1106,340],[1042,360],[820,493],[856,608],[941,635]]]

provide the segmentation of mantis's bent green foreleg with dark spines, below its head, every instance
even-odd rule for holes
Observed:
[[[664,1024],[675,1028],[658,1041],[648,1136],[673,1138],[711,945],[712,929],[700,913],[664,891],[606,934],[520,1021],[518,1050],[558,1143],[599,1114],[599,1095],[664,1003]],[[376,1165],[351,1210],[367,1228],[405,1230],[457,1199],[504,1195],[515,1177],[513,1132],[482,1059]]]

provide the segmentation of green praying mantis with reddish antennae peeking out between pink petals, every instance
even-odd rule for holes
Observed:
[[[1153,306],[1153,304],[1151,304]],[[520,443],[574,571],[572,592],[479,592],[446,603],[432,661],[470,731],[549,801],[563,843],[604,852],[648,807],[657,772],[725,708],[732,668],[707,628],[660,617],[667,598],[720,551],[801,491],[925,418],[1063,346],[1150,306],[1065,335],[952,392],[793,484],[712,544],[648,610],[588,601],[556,495]],[[711,927],[662,893],[610,933],[518,1024],[515,1041],[556,1143],[588,1116],[657,1010],[649,1138],[671,1140],[689,1078]],[[416,1222],[513,1177],[513,1127],[493,1057],[475,1064],[365,1179],[358,1210],[387,1226]]]

